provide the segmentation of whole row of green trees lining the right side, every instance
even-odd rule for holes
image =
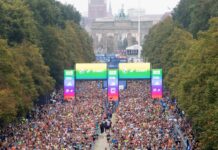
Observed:
[[[165,88],[191,120],[201,149],[210,150],[218,149],[217,6],[181,0],[173,18],[155,25],[143,45],[144,58],[163,68]]]

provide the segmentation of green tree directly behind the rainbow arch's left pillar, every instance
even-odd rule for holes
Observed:
[[[94,60],[91,38],[73,22],[66,22],[65,29],[48,26],[41,35],[43,57],[51,68],[57,86],[63,84],[63,70],[72,69],[76,62]]]

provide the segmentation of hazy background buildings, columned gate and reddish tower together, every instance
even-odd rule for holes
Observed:
[[[124,5],[118,15],[113,16],[110,2],[108,6],[107,0],[89,0],[88,21],[84,27],[93,38],[96,54],[114,53],[138,44],[137,14],[140,13],[141,18],[140,44],[148,35],[149,29],[161,18],[160,15],[146,15],[142,9],[129,9],[127,16]]]

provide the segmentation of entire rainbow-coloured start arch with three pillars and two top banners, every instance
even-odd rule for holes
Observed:
[[[119,100],[119,80],[150,80],[152,98],[163,96],[163,71],[151,69],[150,63],[119,63],[118,69],[107,69],[106,63],[77,63],[75,70],[64,70],[64,100],[75,99],[76,80],[106,80],[108,101]]]

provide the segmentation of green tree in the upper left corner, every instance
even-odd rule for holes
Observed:
[[[36,42],[36,22],[23,1],[0,1],[0,35],[9,44]]]

